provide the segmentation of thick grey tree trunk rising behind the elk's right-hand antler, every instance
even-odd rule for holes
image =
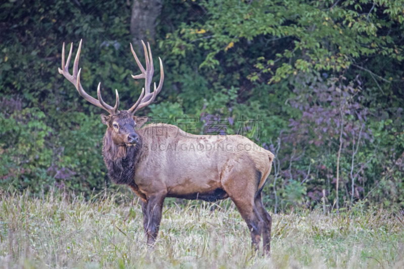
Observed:
[[[135,50],[143,51],[141,40],[156,42],[156,20],[161,8],[162,0],[133,0],[130,33]]]

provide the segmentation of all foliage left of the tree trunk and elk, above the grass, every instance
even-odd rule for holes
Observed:
[[[120,89],[123,100],[137,98],[141,86],[129,85],[133,63],[122,64],[118,57],[130,52],[121,45],[130,40],[128,28],[122,27],[129,23],[130,7],[91,1],[80,1],[80,6],[69,1],[9,2],[1,7],[0,38],[8,41],[0,44],[0,186],[29,186],[38,192],[41,186],[58,186],[86,194],[105,188],[100,111],[57,68],[62,42],[74,41],[76,50],[84,38],[80,66],[86,91],[96,96],[102,80],[107,102],[112,91],[104,85]]]

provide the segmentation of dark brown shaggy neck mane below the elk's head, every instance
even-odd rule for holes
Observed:
[[[117,146],[111,139],[108,128],[103,140],[104,162],[108,168],[108,176],[116,184],[134,184],[135,164],[139,159],[142,145],[141,137],[134,147]]]

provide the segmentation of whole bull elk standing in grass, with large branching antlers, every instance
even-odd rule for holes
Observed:
[[[88,95],[80,84],[78,63],[81,41],[73,65],[68,68],[73,43],[65,62],[62,49],[62,74],[74,84],[88,102],[106,111],[101,120],[107,125],[103,140],[103,156],[108,175],[117,184],[128,185],[141,199],[143,228],[147,244],[154,245],[166,197],[217,201],[230,197],[250,230],[252,245],[259,248],[261,235],[265,253],[270,251],[272,218],[262,203],[261,192],[271,172],[274,155],[239,135],[209,136],[187,133],[175,125],[147,124],[147,117],[134,116],[136,111],[153,102],[163,87],[164,70],[160,60],[160,82],[150,93],[154,67],[150,46],[143,43],[146,69],[130,45],[141,74],[145,79],[136,103],[128,110],[118,110],[105,103],[97,88],[98,100]],[[209,149],[208,149],[209,148]]]

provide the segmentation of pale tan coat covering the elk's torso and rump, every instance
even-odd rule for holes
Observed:
[[[203,197],[220,188],[251,193],[254,199],[274,159],[270,151],[238,135],[194,135],[169,124],[148,124],[137,133],[142,151],[135,183],[146,195],[166,191],[172,197]]]

